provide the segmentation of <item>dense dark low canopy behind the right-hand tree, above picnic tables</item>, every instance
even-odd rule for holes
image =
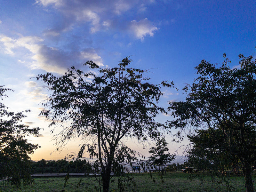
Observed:
[[[187,151],[190,166],[200,171],[215,173],[219,172],[219,169],[233,169],[238,166],[238,157],[223,148],[221,129],[216,129],[214,136],[210,129],[196,130],[196,134],[188,135],[188,139],[193,145]],[[231,138],[233,139],[235,138]]]

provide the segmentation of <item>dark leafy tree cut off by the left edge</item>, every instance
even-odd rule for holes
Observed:
[[[10,90],[0,86],[0,100],[7,97],[5,91]],[[0,178],[5,177],[18,187],[22,180],[24,183],[32,181],[28,154],[33,154],[34,150],[40,147],[28,143],[26,139],[29,135],[38,136],[40,129],[19,124],[21,119],[26,117],[23,112],[28,111],[10,112],[0,102]]]

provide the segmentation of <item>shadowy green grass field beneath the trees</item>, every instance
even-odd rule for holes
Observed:
[[[204,176],[204,182],[201,182],[198,177],[193,180],[188,179],[188,173],[181,172],[167,172],[164,175],[164,183],[161,183],[160,177],[154,173],[153,177],[156,179],[156,183],[150,178],[148,173],[133,174],[136,181],[136,186],[128,186],[126,191],[132,191],[132,188],[138,192],[215,192],[215,191],[227,191],[225,183],[217,185],[215,182],[212,183],[210,176]],[[22,186],[21,190],[5,183],[0,184],[0,191],[7,192],[82,192],[82,191],[95,191],[94,186],[98,187],[96,179],[91,177],[82,178],[81,185],[76,188],[80,177],[70,177],[67,186],[64,188],[64,178],[51,177],[51,178],[35,178],[35,183],[27,186]],[[255,186],[255,176],[253,176]],[[244,178],[243,176],[231,176],[229,179],[232,191],[245,191]],[[109,191],[119,191],[117,187],[117,181],[110,184]]]

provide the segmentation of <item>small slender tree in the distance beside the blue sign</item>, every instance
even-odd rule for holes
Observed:
[[[164,174],[165,165],[175,159],[175,155],[166,153],[168,150],[167,143],[163,137],[156,142],[156,147],[151,147],[148,151],[152,154],[152,156],[148,157],[148,161],[151,162],[153,166],[158,166],[162,174]]]

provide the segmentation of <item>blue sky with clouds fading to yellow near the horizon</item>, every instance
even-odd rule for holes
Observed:
[[[149,69],[151,82],[171,80],[179,89],[162,89],[159,105],[167,109],[169,101],[185,100],[182,88],[193,82],[201,60],[221,64],[226,53],[234,68],[239,53],[256,57],[255,10],[256,1],[249,0],[0,0],[0,84],[15,90],[1,102],[13,112],[32,110],[22,120],[42,129],[38,138],[28,138],[41,146],[32,160],[63,159],[77,152],[81,141],[54,152],[52,139],[60,129],[51,134],[49,122],[38,116],[49,94],[38,74],[61,76],[74,65],[87,71],[88,60],[116,67],[130,56],[131,67]],[[160,114],[156,120],[171,119]],[[178,149],[178,155],[188,143],[173,143],[170,135],[166,140],[169,152]],[[127,145],[149,155],[150,145],[131,140]]]

